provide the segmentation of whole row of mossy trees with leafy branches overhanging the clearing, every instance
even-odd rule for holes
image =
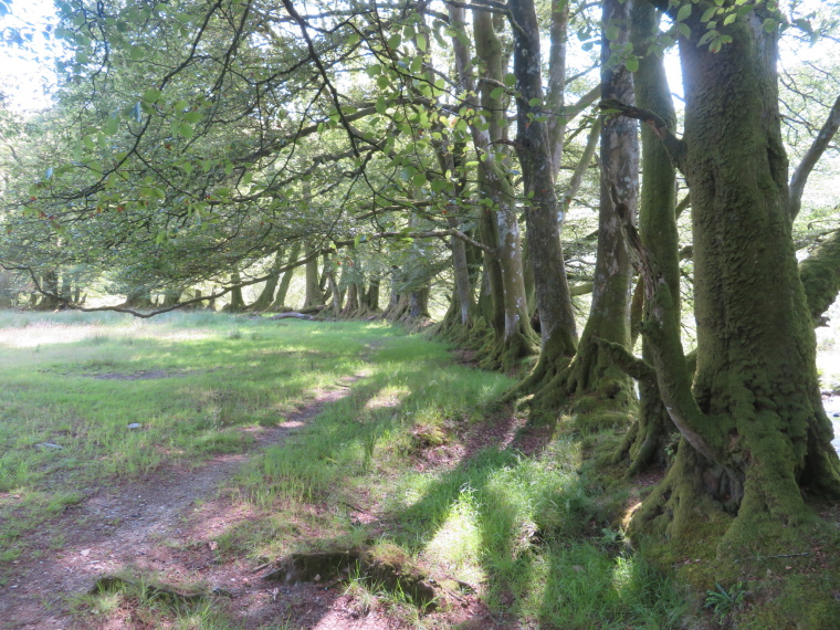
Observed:
[[[631,424],[615,456],[628,475],[679,435],[633,534],[700,531],[722,555],[792,545],[802,492],[840,496],[813,334],[840,237],[833,208],[801,210],[836,151],[838,83],[801,65],[780,91],[777,67],[783,36],[833,41],[832,3],[56,7],[56,104],[3,123],[0,261],[48,296],[77,305],[56,270],[81,266],[112,274],[123,309],[220,282],[180,302],[244,308],[241,288],[264,283],[252,306],[279,306],[297,267],[303,306],[334,316],[378,312],[380,287],[398,319],[443,294],[440,332],[484,366],[538,354],[511,393],[534,421]]]

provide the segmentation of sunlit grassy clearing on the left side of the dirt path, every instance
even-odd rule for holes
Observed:
[[[0,548],[103,481],[238,452],[360,369],[349,328],[178,314],[0,316]],[[382,335],[387,335],[382,333]],[[139,428],[129,428],[139,424]]]

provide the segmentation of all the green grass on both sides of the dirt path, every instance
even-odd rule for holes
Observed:
[[[685,594],[603,532],[580,442],[546,434],[525,455],[494,430],[516,420],[497,402],[511,379],[378,323],[0,314],[0,563],[102,484],[240,451],[242,429],[281,422],[358,375],[238,473],[232,501],[253,516],[217,536],[222,560],[387,544],[438,582],[476,590],[510,627],[681,627]],[[35,449],[44,442],[62,448]],[[405,594],[365,576],[346,588],[359,613],[384,607],[427,623]],[[91,596],[77,615],[113,615],[126,598],[153,623],[238,624],[214,600],[172,610],[136,594]]]

